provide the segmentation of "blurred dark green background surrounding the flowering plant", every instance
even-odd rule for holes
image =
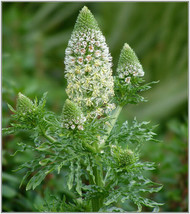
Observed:
[[[162,142],[147,144],[142,159],[158,164],[149,176],[164,188],[149,197],[165,203],[161,211],[187,211],[187,2],[3,2],[2,127],[10,124],[7,103],[15,107],[18,92],[33,99],[48,91],[47,108],[61,113],[66,99],[64,52],[84,5],[92,11],[106,37],[113,70],[127,42],[144,67],[146,82],[160,80],[144,93],[149,102],[126,106],[120,122],[136,116],[139,121],[159,124],[156,132]],[[35,191],[19,189],[23,174],[12,170],[33,157],[30,151],[10,156],[20,141],[31,139],[25,133],[3,137],[2,207],[7,212],[36,211],[44,189],[62,193],[63,177],[54,175],[47,176]]]

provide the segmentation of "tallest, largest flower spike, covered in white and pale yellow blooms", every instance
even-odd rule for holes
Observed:
[[[98,24],[84,7],[76,21],[65,52],[65,77],[70,100],[87,112],[87,117],[114,109],[112,57]]]

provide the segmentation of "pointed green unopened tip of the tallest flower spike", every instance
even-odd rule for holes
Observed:
[[[94,18],[94,16],[86,6],[82,8],[82,10],[78,15],[78,18],[74,27],[74,31],[75,30],[81,31],[81,28],[82,29],[90,28],[94,30],[99,30],[96,19]]]

